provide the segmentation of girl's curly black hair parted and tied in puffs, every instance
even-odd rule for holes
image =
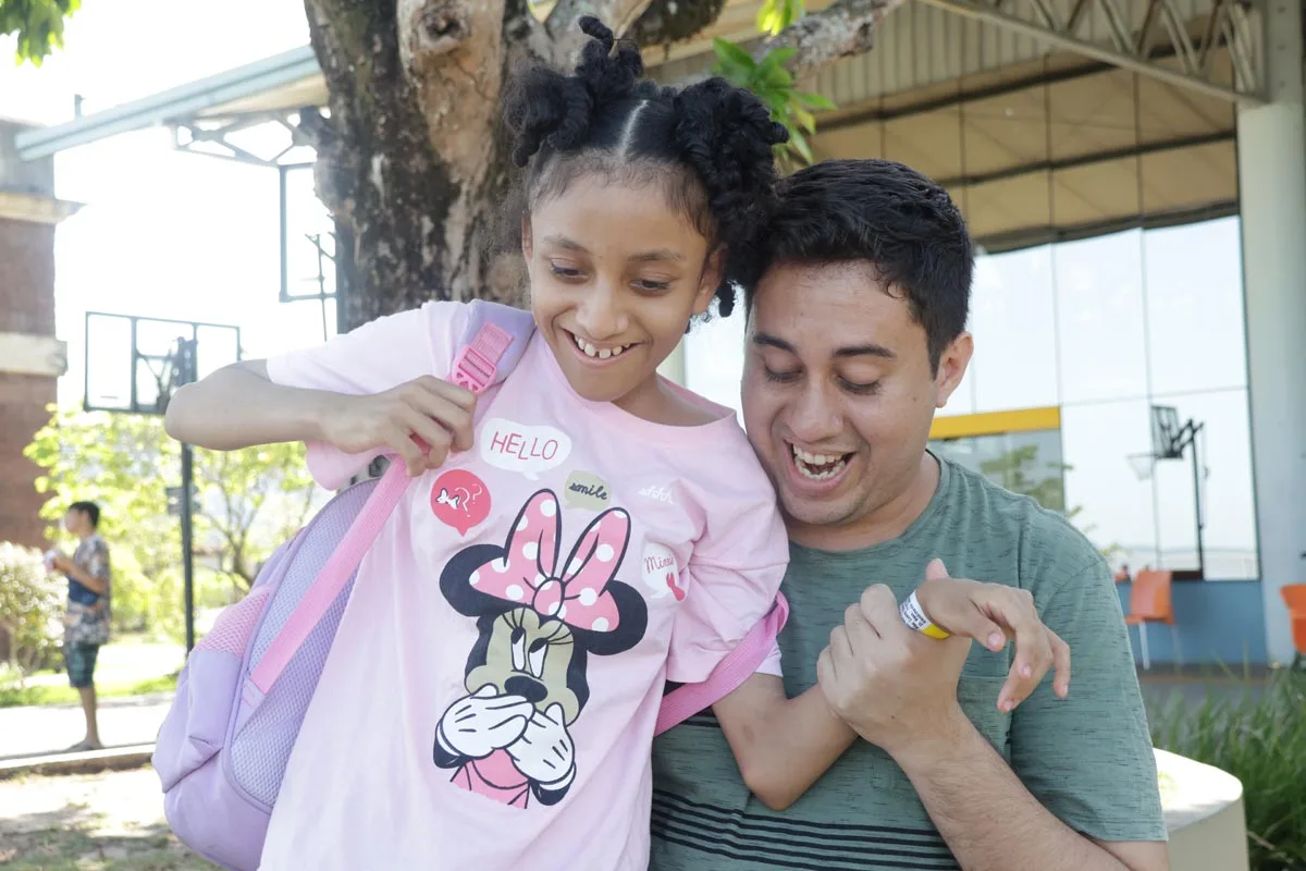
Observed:
[[[575,72],[537,65],[518,73],[505,121],[525,180],[528,208],[559,196],[582,175],[665,185],[713,249],[725,247],[717,311],[730,315],[774,202],[772,146],[784,125],[752,93],[722,78],[666,87],[644,78],[639,47],[616,40],[593,17]]]

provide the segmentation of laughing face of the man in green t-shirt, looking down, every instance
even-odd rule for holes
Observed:
[[[925,328],[868,264],[777,264],[748,324],[743,415],[790,534],[874,522],[918,481],[930,424],[965,373],[931,372]]]

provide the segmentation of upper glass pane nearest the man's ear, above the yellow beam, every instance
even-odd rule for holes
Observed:
[[[1051,247],[976,260],[970,363],[976,411],[1057,405]]]

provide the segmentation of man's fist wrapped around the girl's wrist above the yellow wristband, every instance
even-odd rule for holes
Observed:
[[[970,639],[939,641],[909,628],[884,585],[844,612],[816,661],[831,709],[889,755],[904,742],[965,725],[957,680]]]

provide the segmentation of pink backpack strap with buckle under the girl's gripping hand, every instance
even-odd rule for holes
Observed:
[[[468,325],[458,342],[449,380],[475,393],[483,393],[508,377],[521,359],[534,332],[534,319],[530,312],[498,303],[478,300],[469,308]],[[266,693],[272,688],[290,665],[290,659],[303,646],[304,640],[336,602],[336,597],[354,576],[363,555],[376,541],[407,486],[407,469],[402,462],[392,462],[355,515],[349,531],[340,539],[326,564],[251,673],[249,683],[257,693]]]

